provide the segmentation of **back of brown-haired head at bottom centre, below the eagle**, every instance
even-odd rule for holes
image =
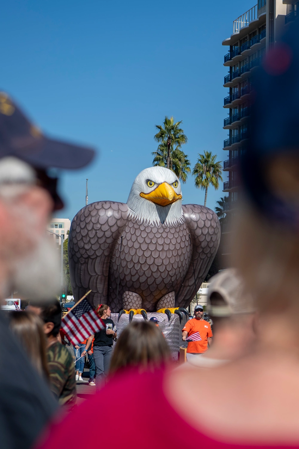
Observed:
[[[121,332],[116,343],[110,374],[128,366],[154,369],[169,361],[170,352],[164,336],[155,324],[134,321]]]

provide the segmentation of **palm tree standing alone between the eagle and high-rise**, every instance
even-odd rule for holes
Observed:
[[[204,206],[207,204],[208,187],[210,184],[215,190],[219,189],[219,180],[223,180],[221,173],[221,161],[216,162],[217,154],[204,150],[204,154],[198,154],[192,176],[195,176],[195,187],[205,190]]]

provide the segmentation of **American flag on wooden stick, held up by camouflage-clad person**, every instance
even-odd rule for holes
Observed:
[[[81,343],[95,332],[106,329],[86,298],[78,301],[61,320],[67,339],[74,345]]]

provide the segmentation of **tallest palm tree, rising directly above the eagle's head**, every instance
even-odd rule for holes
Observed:
[[[182,128],[179,128],[181,123],[182,120],[180,122],[174,123],[173,117],[170,117],[169,119],[165,115],[165,120],[163,122],[164,127],[162,127],[161,125],[156,125],[156,129],[158,129],[159,131],[154,136],[155,141],[160,142],[163,145],[167,145],[167,168],[170,168],[170,151],[173,149],[174,145],[177,149],[188,141],[187,136],[184,134],[184,130]]]

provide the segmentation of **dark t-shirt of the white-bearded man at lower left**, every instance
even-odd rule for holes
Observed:
[[[23,312],[20,312],[23,313]],[[0,312],[0,448],[29,449],[58,404]]]

